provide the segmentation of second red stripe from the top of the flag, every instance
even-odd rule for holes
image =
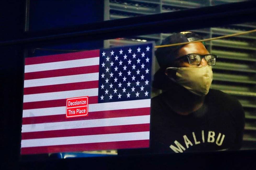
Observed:
[[[66,76],[66,75],[97,73],[97,72],[99,72],[99,65],[74,67],[74,68],[63,68],[63,69],[56,69],[56,70],[25,73],[24,80],[58,77],[58,76]]]

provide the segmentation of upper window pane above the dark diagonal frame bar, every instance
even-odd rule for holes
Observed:
[[[106,1],[29,1],[27,31],[65,28],[120,18],[201,8],[241,0],[106,0]],[[47,9],[47,10],[45,10]]]

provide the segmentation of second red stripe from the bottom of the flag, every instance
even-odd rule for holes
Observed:
[[[26,132],[26,133],[22,133],[22,140],[36,139],[36,138],[49,138],[49,137],[67,137],[67,136],[100,135],[100,134],[129,133],[129,132],[146,132],[146,131],[149,131],[149,125],[150,125],[149,123],[146,123],[146,124],[106,126],[106,127],[95,127],[95,128]]]

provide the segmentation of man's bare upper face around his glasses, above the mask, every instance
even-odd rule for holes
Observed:
[[[180,48],[177,57],[179,58],[181,56],[184,56],[186,54],[210,54],[207,49],[204,47],[203,43],[201,42],[195,42],[195,43],[189,43],[185,45],[184,47]],[[189,64],[189,61],[187,58],[181,59],[174,62],[175,67],[198,67],[198,66],[207,66],[207,62],[204,58],[202,58],[200,64],[198,65],[191,65]]]

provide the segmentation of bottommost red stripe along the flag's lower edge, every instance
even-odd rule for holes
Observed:
[[[78,152],[89,150],[109,150],[109,149],[127,149],[127,148],[148,148],[149,140],[119,141],[119,142],[101,142],[84,143],[73,145],[43,146],[21,148],[21,154],[43,154],[58,152]]]

